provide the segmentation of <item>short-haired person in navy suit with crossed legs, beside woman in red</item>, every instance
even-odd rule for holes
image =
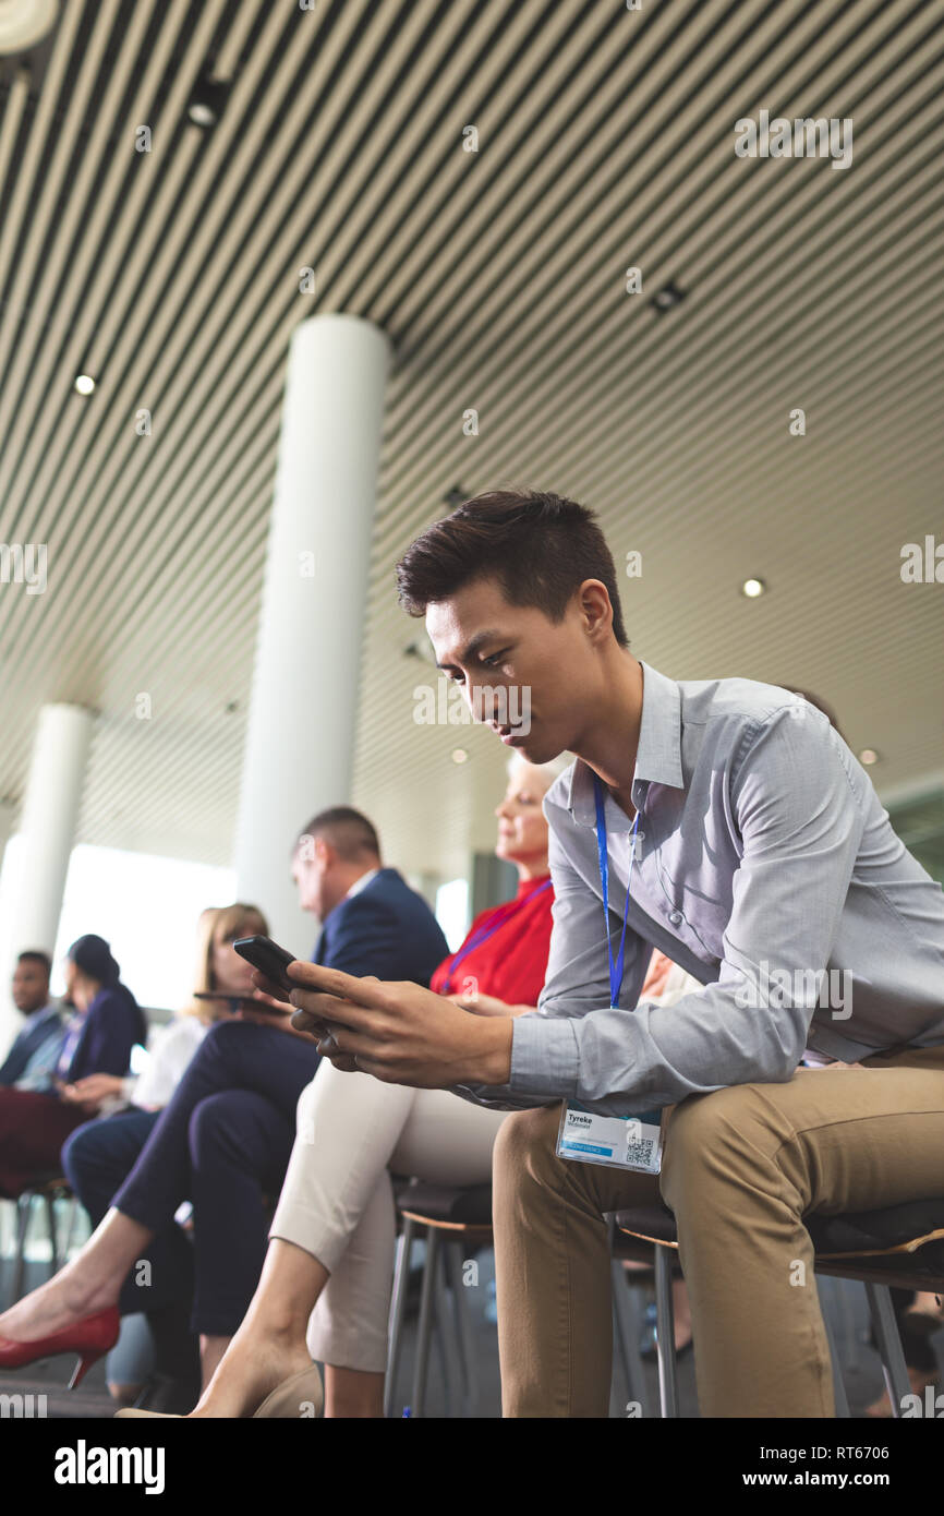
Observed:
[[[365,816],[347,805],[315,816],[295,846],[292,873],[302,908],[324,923],[317,963],[429,985],[445,938],[426,901],[382,866]],[[312,1038],[264,1001],[258,1013],[212,1026],[88,1243],[55,1280],[0,1316],[0,1367],[74,1351],[77,1384],[115,1343],[129,1270],[189,1199],[191,1325],[208,1383],[259,1283],[265,1198],[282,1187],[295,1105],[318,1061]],[[133,1272],[138,1310],[148,1310],[156,1283],[148,1272]]]

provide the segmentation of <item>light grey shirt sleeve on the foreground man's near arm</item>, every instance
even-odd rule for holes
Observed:
[[[520,1017],[512,1095],[527,1081],[530,1095],[553,1090],[603,1114],[629,1116],[732,1084],[791,1078],[820,998],[865,813],[826,719],[774,713],[750,734],[732,772],[729,799],[742,857],[718,981],[671,1007],[609,1010],[606,994],[577,1019]],[[591,984],[583,1001],[597,993],[599,975]],[[552,988],[549,978],[541,1008]]]

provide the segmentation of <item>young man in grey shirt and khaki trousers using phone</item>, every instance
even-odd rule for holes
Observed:
[[[702,1414],[833,1416],[803,1217],[944,1196],[941,887],[824,714],[749,679],[676,684],[632,656],[582,506],[479,496],[399,576],[439,667],[506,744],[532,763],[577,753],[544,802],[545,987],[535,1014],[479,1019],[414,985],[297,964],[295,1023],[321,1028],[339,1067],[521,1108],[494,1172],[506,1416],[606,1416],[603,1213],[659,1193]],[[518,734],[488,716],[515,685],[530,697]],[[703,988],[633,1010],[650,946]],[[836,1067],[800,1069],[805,1051]],[[661,1173],[556,1157],[562,1099],[664,1108]]]

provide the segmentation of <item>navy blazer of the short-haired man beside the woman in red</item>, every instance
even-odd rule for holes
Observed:
[[[421,894],[395,869],[380,869],[324,919],[312,963],[429,987],[449,943]]]

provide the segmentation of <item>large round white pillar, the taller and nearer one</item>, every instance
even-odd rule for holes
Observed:
[[[361,638],[389,343],[356,315],[294,332],[236,825],[239,899],[308,957],[317,923],[289,858],[305,823],[350,799]]]

